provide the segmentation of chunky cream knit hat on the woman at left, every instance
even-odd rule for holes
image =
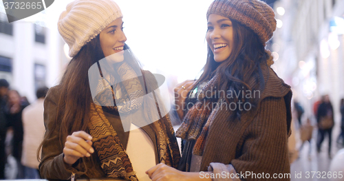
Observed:
[[[58,19],[58,32],[69,46],[69,56],[96,37],[109,23],[123,17],[113,0],[75,0]]]

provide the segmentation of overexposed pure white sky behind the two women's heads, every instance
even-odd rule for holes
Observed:
[[[54,1],[46,10],[21,21],[57,31],[58,17],[72,1]],[[197,1],[197,8],[195,1],[184,0],[115,1],[123,14],[126,43],[144,68],[178,76],[180,81],[200,75],[206,63],[206,11],[213,0]],[[67,54],[67,45],[63,49]]]

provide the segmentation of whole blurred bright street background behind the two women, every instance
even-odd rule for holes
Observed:
[[[56,27],[70,1],[55,1],[13,23],[0,3],[0,179],[39,178],[43,98],[70,61]],[[173,87],[197,78],[206,61],[211,1],[116,1],[124,14],[127,44],[144,69],[166,77],[171,104]],[[292,173],[336,169],[333,158],[344,147],[344,0],[265,1],[277,19],[267,45],[274,56],[272,68],[293,91]],[[178,127],[180,120],[173,124]]]

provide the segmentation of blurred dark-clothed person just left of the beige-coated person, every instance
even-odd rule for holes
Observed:
[[[23,165],[21,164],[21,150],[23,144],[23,122],[22,111],[25,105],[21,103],[21,96],[17,90],[8,92],[7,120],[8,125],[13,129],[12,138],[12,156],[17,161],[18,174],[17,178],[24,178]]]

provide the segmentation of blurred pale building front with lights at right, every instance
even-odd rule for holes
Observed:
[[[313,104],[329,94],[339,123],[344,97],[344,1],[279,0],[274,5],[277,32],[270,49],[274,69],[289,85],[293,98],[312,117]]]

